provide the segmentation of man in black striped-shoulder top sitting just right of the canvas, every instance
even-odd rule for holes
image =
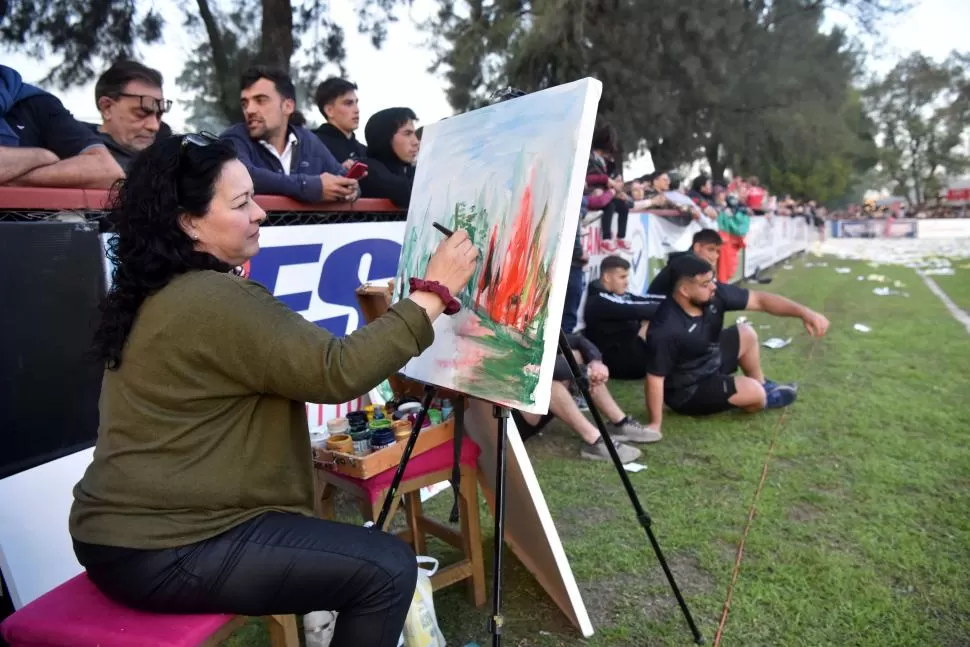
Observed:
[[[621,380],[642,380],[647,375],[647,322],[664,302],[663,296],[627,292],[630,262],[607,256],[600,277],[586,293],[586,336],[603,353],[610,375]]]

